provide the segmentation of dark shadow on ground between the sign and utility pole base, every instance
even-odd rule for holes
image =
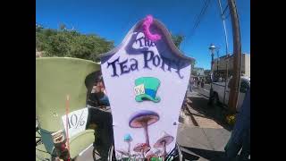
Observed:
[[[189,97],[191,103],[188,103],[192,109],[198,111],[199,114],[193,114],[189,111],[189,115],[198,115],[214,120],[215,123],[223,126],[227,131],[231,131],[231,126],[227,123],[223,123],[223,109],[221,106],[208,106],[205,97]],[[204,115],[200,115],[204,114]],[[187,114],[188,115],[188,114]]]

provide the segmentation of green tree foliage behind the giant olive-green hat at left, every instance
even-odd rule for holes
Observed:
[[[113,41],[95,34],[85,35],[76,30],[66,30],[64,24],[59,30],[36,25],[36,48],[38,51],[44,51],[43,56],[66,56],[99,61],[98,55],[113,47]]]

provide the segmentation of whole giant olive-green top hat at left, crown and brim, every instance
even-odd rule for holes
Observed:
[[[52,161],[59,157],[55,150],[52,134],[63,130],[63,136],[66,137],[65,133],[67,133],[64,131],[62,118],[62,116],[65,118],[67,113],[66,104],[69,105],[69,114],[86,108],[86,77],[99,70],[98,64],[77,58],[43,57],[36,59],[36,116],[38,119],[36,148],[39,142],[43,143],[44,149]],[[67,95],[69,98],[66,99]],[[77,124],[73,128],[80,129],[78,125],[86,122],[84,119],[80,120],[79,116],[81,115],[70,118],[69,115],[69,128]],[[79,117],[78,120],[75,117]],[[70,131],[68,137],[64,139],[69,140],[71,160],[93,145],[96,134],[93,129],[86,129],[86,127],[77,133],[72,132]],[[62,135],[60,136],[62,137]]]

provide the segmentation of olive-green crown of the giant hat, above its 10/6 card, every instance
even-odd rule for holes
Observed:
[[[70,95],[70,112],[86,106],[86,76],[100,70],[91,61],[45,57],[36,59],[36,114],[42,129],[63,129],[66,95]]]

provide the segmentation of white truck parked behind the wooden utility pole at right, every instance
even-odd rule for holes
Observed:
[[[213,82],[213,105],[223,104],[224,106],[228,106],[231,83],[232,78],[227,81],[227,86],[225,88],[225,82]],[[240,111],[240,106],[242,105],[243,99],[248,89],[250,89],[250,77],[240,77],[240,94],[237,111]]]

